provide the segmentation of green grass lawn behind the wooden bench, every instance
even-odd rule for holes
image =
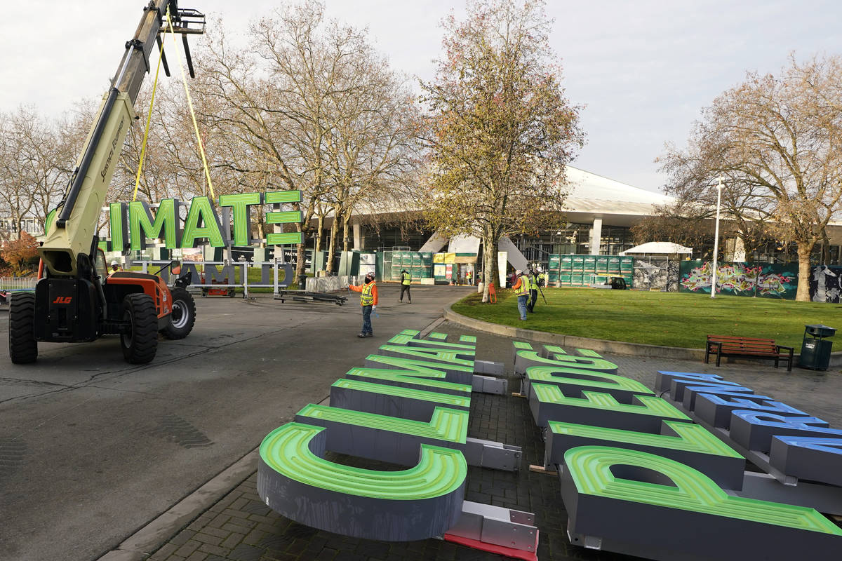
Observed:
[[[543,288],[535,314],[520,321],[511,290],[498,290],[497,304],[482,304],[472,294],[453,304],[461,315],[536,331],[628,341],[668,347],[704,348],[707,335],[775,339],[778,345],[801,350],[804,325],[823,323],[839,332],[831,338],[842,350],[842,304],[794,302],[741,296]]]

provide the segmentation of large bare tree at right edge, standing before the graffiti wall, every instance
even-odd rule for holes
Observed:
[[[710,205],[723,177],[722,199],[741,234],[763,225],[797,244],[801,301],[809,299],[810,254],[842,200],[840,81],[836,56],[793,57],[776,77],[749,72],[703,109],[685,150],[667,146],[659,158],[668,193]]]

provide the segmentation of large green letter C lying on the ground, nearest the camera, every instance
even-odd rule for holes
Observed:
[[[440,535],[461,516],[467,463],[458,450],[422,444],[413,468],[354,468],[322,458],[325,432],[292,422],[264,438],[258,495],[269,508],[307,526],[392,541]]]

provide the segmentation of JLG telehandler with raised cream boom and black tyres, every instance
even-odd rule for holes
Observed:
[[[35,294],[15,294],[9,305],[9,355],[13,363],[32,363],[38,341],[94,341],[119,334],[124,357],[130,363],[148,363],[157,352],[157,335],[171,339],[189,334],[195,322],[195,303],[185,289],[189,278],[179,278],[170,289],[160,277],[146,273],[112,273],[108,276],[99,250],[97,220],[120,159],[125,136],[135,120],[134,103],[149,72],[154,45],[162,45],[168,31],[182,34],[205,32],[205,16],[179,9],[177,0],[150,0],[143,8],[134,37],[125,43],[109,91],[85,140],[71,182],[55,220],[46,225],[38,252],[43,272]],[[166,58],[164,70],[169,75]],[[49,222],[49,220],[48,220]]]

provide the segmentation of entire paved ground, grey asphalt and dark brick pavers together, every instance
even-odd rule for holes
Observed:
[[[355,337],[353,298],[344,307],[198,299],[194,333],[162,341],[155,362],[140,368],[122,362],[113,338],[44,345],[34,367],[13,367],[0,317],[0,511],[17,513],[0,527],[0,558],[501,558],[438,539],[372,542],[301,526],[269,510],[255,486],[261,439],[326,400],[337,378],[404,328],[477,336],[477,358],[503,362],[518,389],[509,338],[437,323],[467,290],[413,287],[413,304],[398,304],[397,286],[381,285],[376,336],[365,340]],[[842,426],[836,371],[605,358],[649,387],[658,370],[719,373]],[[569,544],[557,477],[527,469],[544,451],[525,399],[473,394],[468,436],[523,447],[519,473],[470,467],[466,500],[534,512],[539,559],[626,558]]]

